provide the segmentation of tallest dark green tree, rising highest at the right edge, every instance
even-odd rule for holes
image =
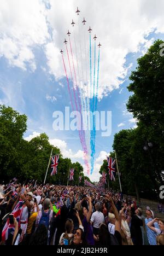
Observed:
[[[133,95],[128,100],[127,109],[139,121],[139,130],[141,131],[142,128],[143,143],[153,143],[153,152],[152,156],[149,155],[149,161],[154,165],[152,167],[154,177],[157,177],[162,185],[164,167],[164,57],[160,56],[161,44],[163,41],[157,40],[147,54],[138,59],[137,70],[132,72],[130,77],[132,83],[128,86],[128,90],[133,92]]]

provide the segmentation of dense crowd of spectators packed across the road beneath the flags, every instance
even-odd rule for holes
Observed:
[[[145,210],[145,211],[144,211]],[[145,212],[145,216],[143,215]],[[1,245],[164,245],[164,221],[112,190],[0,184]]]

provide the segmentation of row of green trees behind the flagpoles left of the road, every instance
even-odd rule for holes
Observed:
[[[75,168],[74,181],[69,184],[78,185],[79,174],[84,177],[83,166],[79,162],[72,163],[71,159],[64,159],[60,149],[49,143],[49,137],[42,133],[30,142],[23,138],[27,129],[26,115],[20,115],[10,107],[0,106],[0,177],[9,181],[13,177],[20,181],[35,179],[44,182],[50,153],[60,154],[57,175],[50,176],[48,170],[46,182],[67,184],[69,168]],[[84,183],[84,179],[83,179]]]

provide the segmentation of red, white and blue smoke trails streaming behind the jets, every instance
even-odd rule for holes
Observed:
[[[79,138],[81,147],[84,152],[84,163],[87,168],[87,174],[92,174],[95,164],[95,143],[96,143],[96,118],[94,115],[90,115],[97,110],[98,102],[98,86],[99,86],[99,61],[100,61],[100,47],[98,56],[96,54],[96,34],[91,38],[92,29],[86,26],[86,20],[81,20],[80,10],[77,8],[75,12],[77,19],[72,20],[72,30],[69,29],[65,39],[66,53],[61,50],[63,67],[65,69],[65,75],[67,79],[68,92],[71,100],[72,110],[76,110],[80,113],[81,129],[79,131]],[[75,21],[75,22],[74,22]],[[86,39],[86,33],[89,33],[89,38]],[[72,41],[72,35],[74,40]],[[82,39],[81,39],[82,38]],[[69,48],[67,43],[69,41]],[[94,42],[94,43],[93,43]],[[92,49],[93,48],[93,49]],[[93,55],[93,67],[92,67],[92,50]],[[87,57],[87,53],[89,57]],[[66,65],[65,57],[68,60]],[[96,74],[96,63],[98,65]],[[93,69],[93,72],[92,72]],[[70,76],[68,75],[68,70]],[[90,77],[88,77],[90,74]],[[97,75],[97,84],[96,84]],[[73,93],[71,90],[73,88]],[[73,94],[73,95],[72,95]],[[90,95],[89,95],[90,94]],[[74,107],[75,106],[75,107]],[[83,113],[88,113],[85,118]],[[79,117],[77,117],[79,118]],[[84,129],[86,127],[86,129]],[[91,129],[90,129],[91,128]],[[90,157],[90,164],[89,164]]]

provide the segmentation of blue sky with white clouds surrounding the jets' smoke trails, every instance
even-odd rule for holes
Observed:
[[[79,17],[75,14],[77,6]],[[79,57],[82,52],[79,70],[81,75],[83,71],[88,71],[86,79],[89,79],[87,29],[91,26],[91,36],[96,33],[97,45],[99,42],[102,44],[97,110],[112,111],[112,134],[102,137],[101,131],[96,133],[95,165],[89,177],[91,181],[98,181],[99,168],[112,151],[114,134],[122,129],[136,128],[137,120],[126,109],[131,95],[127,90],[129,77],[137,67],[137,59],[147,52],[156,39],[164,39],[163,9],[163,0],[1,0],[0,104],[27,115],[25,139],[29,141],[46,132],[50,143],[61,149],[63,157],[71,158],[73,162],[79,161],[87,174],[78,131],[54,131],[52,124],[55,111],[64,112],[67,106],[71,108],[60,53],[63,49],[73,95],[66,46],[63,44],[65,38],[69,40],[67,31],[70,30],[73,35],[74,29]],[[84,17],[86,27],[82,24]],[[76,23],[75,28],[71,26],[72,19]],[[71,40],[75,51],[73,37]],[[71,52],[69,54],[71,58]],[[97,56],[98,51],[96,68]]]

